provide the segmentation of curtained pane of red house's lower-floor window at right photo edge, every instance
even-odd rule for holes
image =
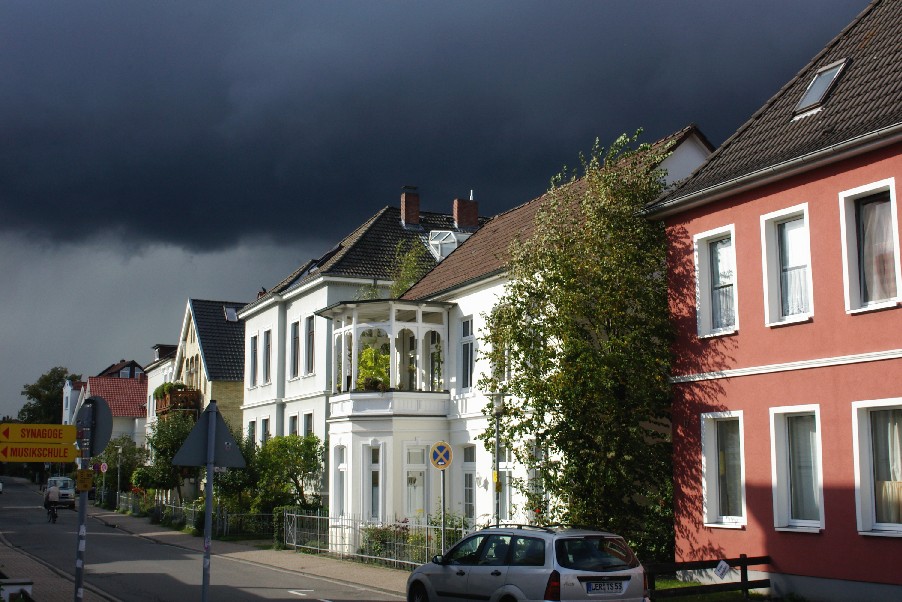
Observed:
[[[902,409],[871,412],[878,523],[902,523]]]

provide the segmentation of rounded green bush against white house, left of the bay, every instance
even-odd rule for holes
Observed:
[[[319,506],[315,490],[323,472],[324,446],[316,435],[273,437],[257,452],[260,480],[255,512],[276,506]]]

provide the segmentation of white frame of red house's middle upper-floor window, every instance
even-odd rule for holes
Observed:
[[[783,298],[780,265],[779,225],[801,217],[805,223],[805,244],[808,246],[808,268],[805,286],[808,293],[808,311],[783,315]],[[811,269],[811,222],[808,219],[808,203],[787,207],[761,216],[761,263],[764,275],[764,323],[766,326],[782,326],[806,322],[814,315],[814,280]]]

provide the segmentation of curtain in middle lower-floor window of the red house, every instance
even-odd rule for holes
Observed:
[[[814,415],[790,416],[789,491],[791,517],[795,520],[820,520],[820,496],[817,486],[817,423]]]

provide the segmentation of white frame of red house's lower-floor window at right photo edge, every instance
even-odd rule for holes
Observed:
[[[871,410],[902,408],[902,397],[852,403],[852,455],[855,462],[855,513],[859,535],[902,537],[902,523],[878,523],[874,507]]]

